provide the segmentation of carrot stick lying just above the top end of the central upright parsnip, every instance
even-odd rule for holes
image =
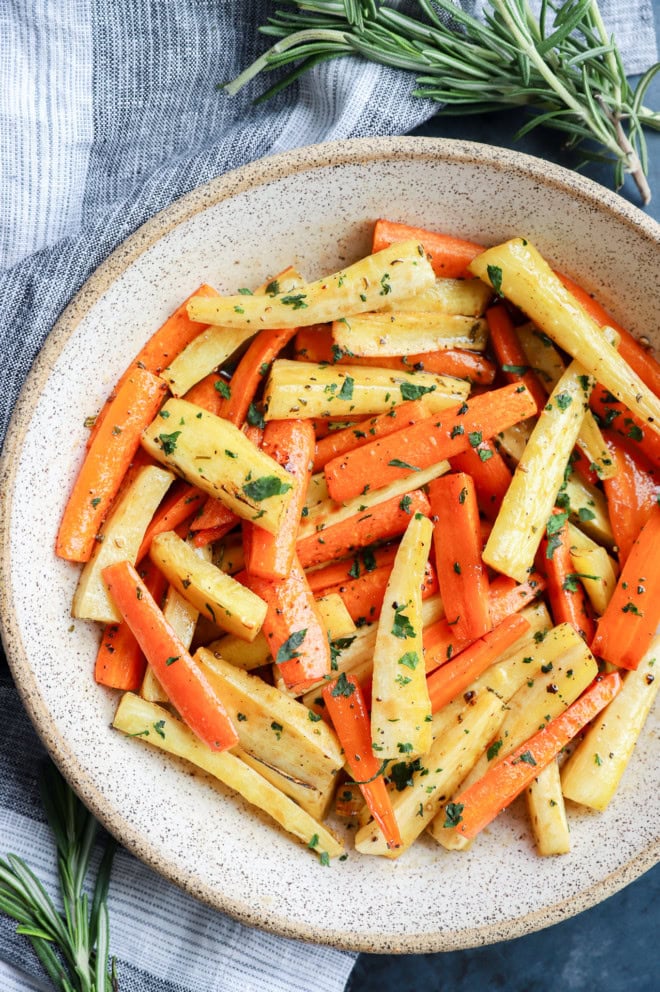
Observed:
[[[428,516],[430,513],[429,501],[420,489],[408,495],[410,503],[406,509],[401,506],[401,497],[393,496],[384,503],[369,507],[364,513],[357,513],[348,520],[299,540],[297,553],[303,568],[320,565],[333,558],[344,558],[356,548],[364,548],[374,541],[388,541],[403,534],[411,514]]]

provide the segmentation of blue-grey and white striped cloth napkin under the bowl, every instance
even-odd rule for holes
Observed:
[[[437,109],[412,97],[409,75],[357,59],[317,66],[258,107],[251,100],[261,81],[233,99],[218,93],[265,48],[256,26],[272,9],[263,0],[0,7],[0,441],[54,321],[145,220],[263,155],[403,134]],[[602,9],[627,69],[647,68],[655,58],[650,0],[609,0]],[[52,891],[55,859],[36,789],[43,750],[4,657],[0,712],[0,855],[25,857]],[[335,992],[354,960],[250,930],[125,851],[109,908],[120,987],[132,992]],[[1,915],[0,987],[48,987],[27,941]]]

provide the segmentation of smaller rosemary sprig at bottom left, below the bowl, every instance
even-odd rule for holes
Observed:
[[[41,781],[46,818],[55,837],[62,911],[22,858],[0,858],[0,911],[19,924],[58,992],[117,992],[114,961],[108,972],[107,895],[115,843],[101,858],[91,906],[87,877],[96,820],[49,765]]]

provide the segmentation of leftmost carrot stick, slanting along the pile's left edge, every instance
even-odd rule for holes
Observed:
[[[90,445],[65,507],[55,553],[89,561],[105,518],[140,443],[160,406],[165,384],[144,369],[124,379]]]

